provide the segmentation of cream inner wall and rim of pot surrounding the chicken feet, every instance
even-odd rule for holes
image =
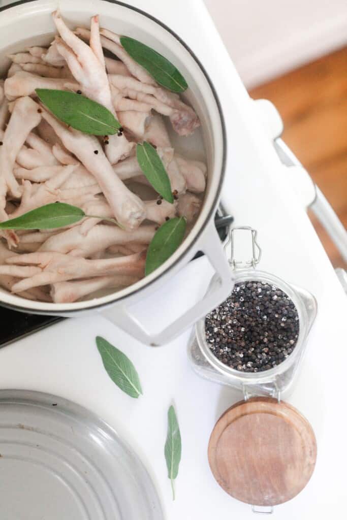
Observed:
[[[53,0],[27,2],[0,12],[0,75],[4,76],[10,65],[6,57],[31,45],[45,46],[56,34],[51,14],[58,3]],[[100,26],[115,33],[126,34],[156,49],[182,72],[189,89],[182,96],[196,110],[201,127],[189,137],[179,137],[172,129],[170,138],[178,153],[191,159],[203,160],[208,166],[207,188],[200,215],[182,245],[150,276],[117,292],[102,292],[91,300],[71,304],[53,304],[26,300],[0,289],[0,299],[7,305],[15,305],[23,310],[43,311],[50,314],[79,310],[123,300],[135,295],[151,282],[176,270],[184,256],[190,259],[189,249],[198,239],[209,219],[213,218],[219,201],[225,152],[221,113],[207,76],[198,62],[178,39],[157,21],[152,20],[131,7],[102,0],[61,0],[59,9],[67,24],[89,27],[91,16],[100,15]]]

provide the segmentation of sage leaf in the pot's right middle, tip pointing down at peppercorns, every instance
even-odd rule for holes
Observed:
[[[136,145],[137,162],[153,188],[171,204],[174,202],[171,183],[157,150],[149,144]]]

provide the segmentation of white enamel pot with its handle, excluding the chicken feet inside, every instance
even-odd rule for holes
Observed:
[[[8,51],[24,46],[42,45],[52,41],[56,32],[51,14],[59,6],[64,19],[71,25],[89,24],[90,17],[100,15],[102,27],[137,38],[171,60],[185,76],[189,91],[187,100],[197,111],[203,133],[208,163],[208,183],[202,211],[187,239],[159,269],[121,291],[93,300],[54,304],[25,300],[6,291],[0,292],[0,303],[12,309],[33,314],[65,317],[101,313],[139,341],[157,346],[173,339],[185,328],[207,314],[230,293],[230,269],[214,227],[214,214],[219,204],[224,175],[226,141],[221,107],[212,83],[190,49],[169,28],[145,12],[112,0],[37,0],[18,2],[0,11],[0,65],[2,73],[9,62]],[[156,335],[150,335],[128,311],[128,306],[156,291],[178,269],[198,252],[208,256],[219,283],[214,291],[196,303],[182,317]]]

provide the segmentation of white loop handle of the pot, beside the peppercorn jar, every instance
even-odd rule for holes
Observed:
[[[192,256],[198,251],[202,251],[208,257],[216,273],[214,275],[216,283],[213,284],[213,288],[204,295],[201,301],[197,302],[159,333],[149,334],[139,320],[132,316],[130,311],[124,306],[119,306],[117,309],[114,307],[103,309],[101,314],[120,329],[146,345],[158,347],[169,343],[179,334],[182,334],[185,329],[196,323],[214,307],[223,302],[234,287],[232,270],[230,269],[221,240],[213,222],[205,230],[203,238],[198,241],[195,250],[192,252]]]

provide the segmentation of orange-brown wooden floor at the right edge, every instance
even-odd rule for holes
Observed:
[[[347,47],[250,90],[271,100],[283,139],[347,227]],[[314,226],[334,267],[346,267],[322,226]]]

